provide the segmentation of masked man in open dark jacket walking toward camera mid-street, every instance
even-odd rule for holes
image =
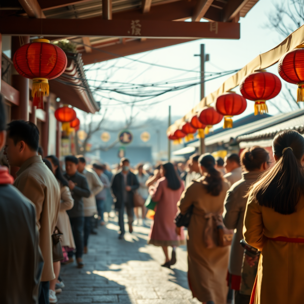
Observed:
[[[118,222],[120,227],[119,239],[123,239],[123,235],[125,234],[123,221],[125,207],[128,215],[129,231],[130,233],[133,232],[133,195],[134,191],[139,188],[139,182],[136,175],[130,171],[130,161],[127,158],[122,158],[120,160],[120,166],[122,169],[114,175],[112,180],[112,191],[116,197],[115,209],[118,211]]]

